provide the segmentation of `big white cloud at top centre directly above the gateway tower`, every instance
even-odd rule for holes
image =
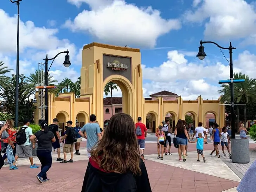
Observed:
[[[178,30],[181,24],[177,19],[163,19],[160,11],[152,7],[136,7],[123,0],[104,1],[106,5],[96,9],[95,4],[101,1],[69,0],[75,5],[85,2],[91,11],[83,10],[65,27],[73,32],[89,32],[100,41],[128,46],[154,47],[158,37]]]

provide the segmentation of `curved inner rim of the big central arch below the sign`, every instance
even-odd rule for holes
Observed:
[[[134,110],[132,107],[133,101],[133,85],[130,81],[121,76],[121,75],[110,75],[109,77],[105,78],[103,82],[103,89],[107,85],[108,82],[116,83],[122,91],[122,111],[123,113],[129,114],[133,116]],[[102,114],[103,114],[103,105],[102,105]]]

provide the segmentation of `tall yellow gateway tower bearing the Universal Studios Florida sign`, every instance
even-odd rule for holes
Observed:
[[[123,112],[134,121],[144,117],[141,53],[139,49],[100,43],[85,45],[82,51],[81,97],[90,99],[90,114],[103,126],[103,89],[108,82],[122,90]],[[146,123],[146,119],[142,118]]]

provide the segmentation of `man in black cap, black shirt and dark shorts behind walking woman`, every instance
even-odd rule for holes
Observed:
[[[57,161],[63,161],[62,158],[60,158],[60,145],[59,143],[62,141],[60,139],[60,135],[59,135],[59,126],[58,126],[58,119],[54,118],[52,120],[52,124],[49,125],[49,131],[51,131],[53,133],[53,135],[55,136],[55,142],[52,143],[52,147],[53,150],[57,149]]]

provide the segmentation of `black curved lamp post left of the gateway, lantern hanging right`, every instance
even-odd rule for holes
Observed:
[[[62,52],[59,52],[55,57],[51,58],[51,59],[48,59],[48,55],[46,54],[46,58],[44,59],[45,61],[45,86],[47,87],[48,86],[48,73],[50,71],[50,68],[52,66],[52,63],[54,62],[54,60],[58,57],[58,55],[62,54],[62,53],[66,53],[66,56],[65,56],[65,61],[63,62],[63,65],[65,67],[69,67],[71,65],[70,63],[70,60],[69,60],[69,50],[67,51],[62,51]],[[50,68],[48,69],[48,61],[49,60],[52,60],[52,63],[50,65]],[[48,89],[45,88],[45,121],[48,122]]]

